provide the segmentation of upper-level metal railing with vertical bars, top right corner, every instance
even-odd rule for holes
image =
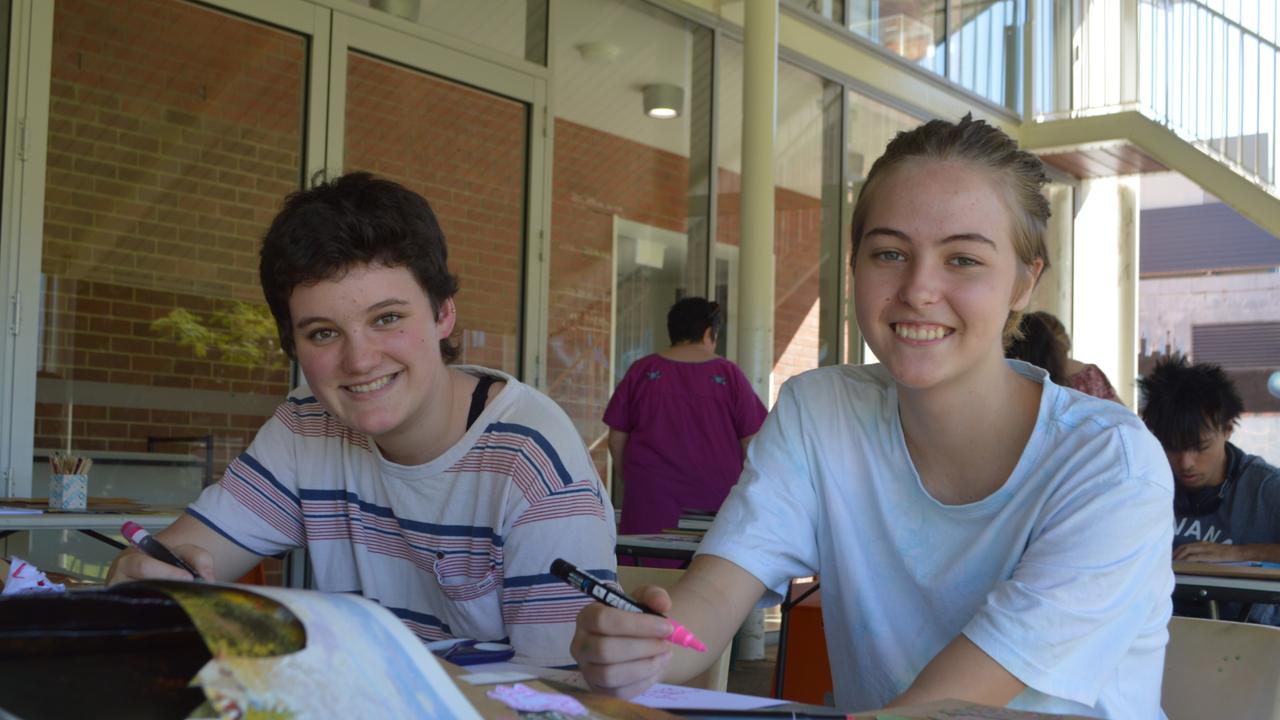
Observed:
[[[1277,193],[1275,5],[1036,0],[1033,119],[1137,110]]]

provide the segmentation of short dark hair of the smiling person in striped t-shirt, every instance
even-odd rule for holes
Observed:
[[[431,311],[457,295],[444,232],[426,200],[389,179],[356,172],[289,195],[262,238],[259,277],[275,316],[280,347],[297,359],[289,296],[300,284],[342,277],[357,265],[404,266],[431,300]],[[447,363],[458,356],[440,341]]]

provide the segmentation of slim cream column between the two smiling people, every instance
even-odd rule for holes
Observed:
[[[773,374],[773,140],[777,133],[778,0],[744,3],[742,236],[737,364],[769,404]]]

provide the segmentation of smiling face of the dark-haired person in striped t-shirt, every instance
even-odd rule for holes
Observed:
[[[298,364],[324,407],[389,446],[412,447],[430,407],[448,411],[439,342],[453,331],[453,301],[436,319],[404,266],[357,265],[289,296]]]

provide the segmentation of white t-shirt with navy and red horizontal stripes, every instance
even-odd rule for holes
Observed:
[[[374,600],[424,641],[506,641],[517,662],[571,665],[590,600],[550,564],[616,580],[613,509],[559,406],[458,369],[507,386],[435,460],[387,460],[301,387],[187,512],[257,555],[306,547],[317,589]]]

